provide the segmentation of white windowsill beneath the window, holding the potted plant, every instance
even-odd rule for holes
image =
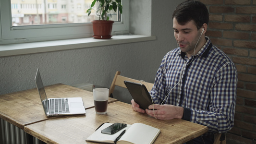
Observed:
[[[39,52],[49,52],[57,50],[89,48],[98,46],[108,46],[124,43],[134,43],[141,41],[156,40],[156,36],[143,35],[119,35],[112,36],[111,39],[95,39],[93,37],[65,39],[43,42],[31,42],[20,44],[0,45],[0,57],[31,54]]]

